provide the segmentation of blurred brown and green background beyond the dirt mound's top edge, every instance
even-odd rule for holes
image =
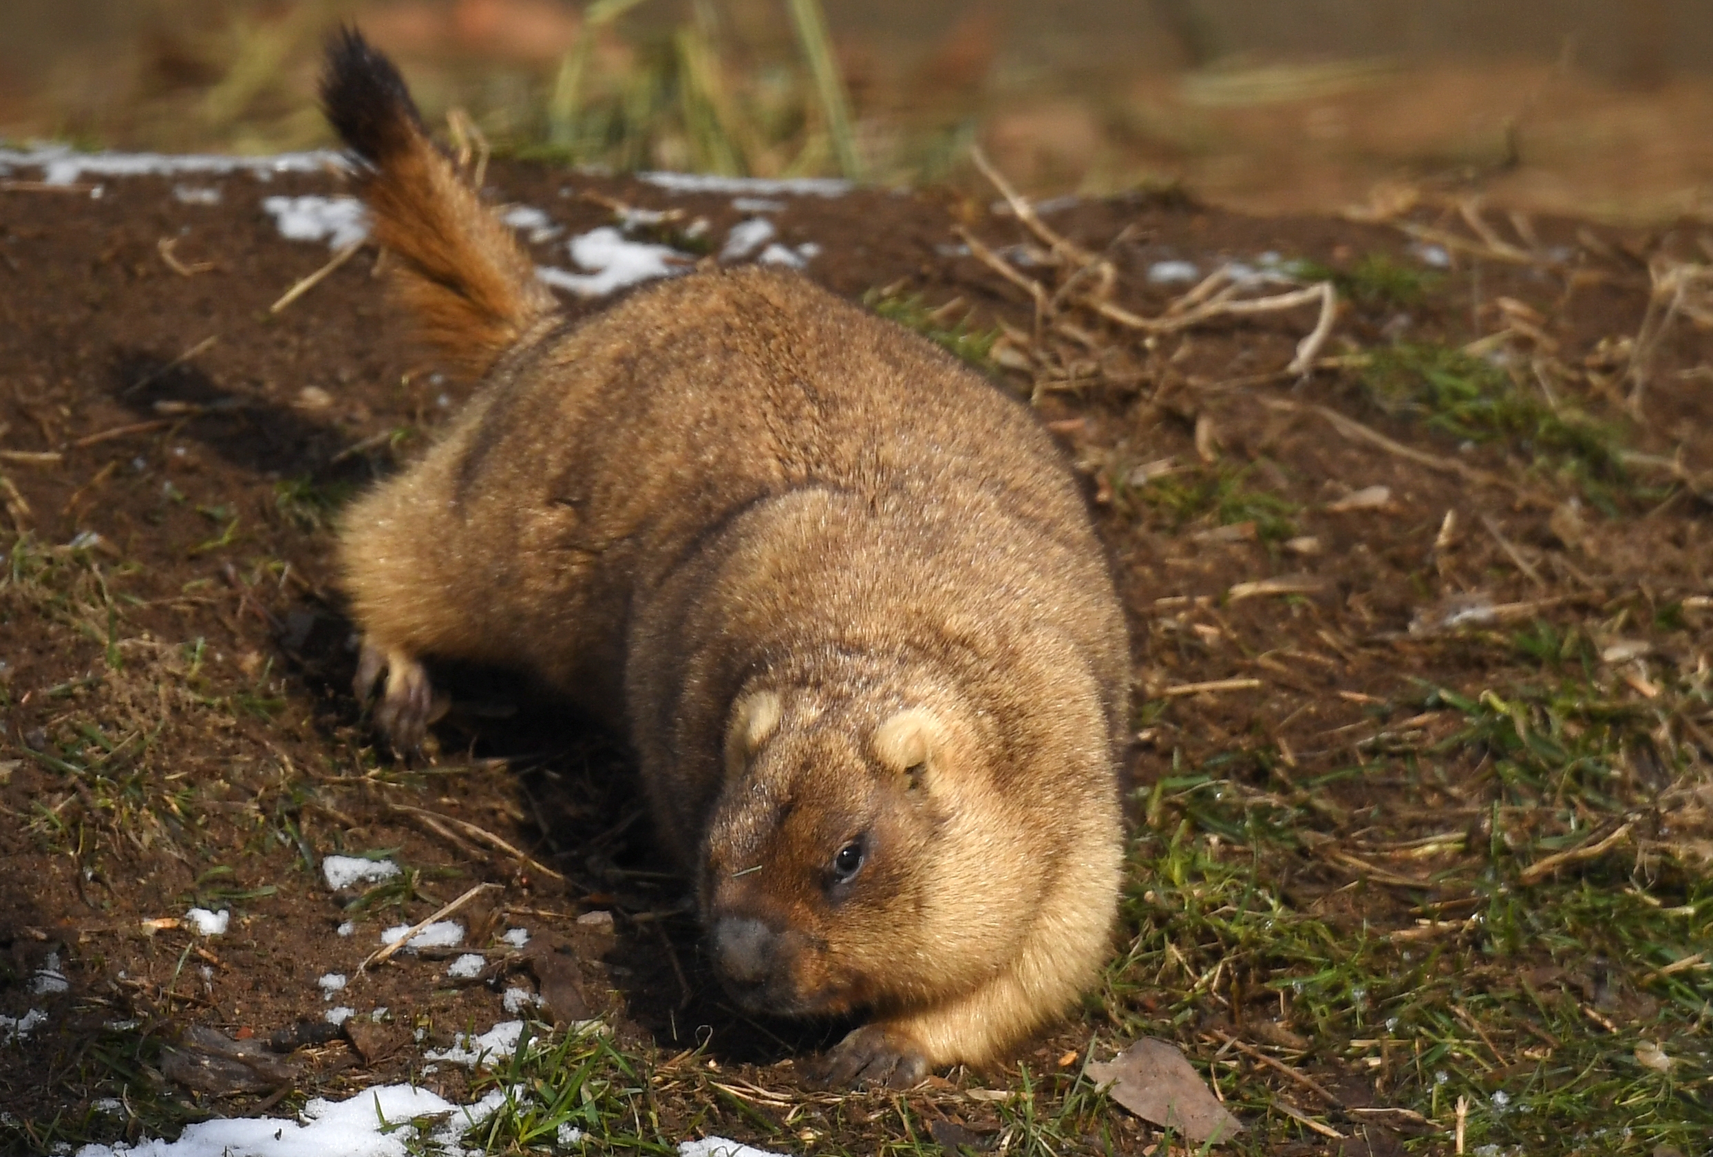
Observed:
[[[0,139],[325,144],[343,19],[433,123],[564,163],[961,183],[980,141],[1036,195],[1713,211],[1706,0],[3,0]]]

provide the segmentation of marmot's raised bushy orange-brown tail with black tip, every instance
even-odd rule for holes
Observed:
[[[375,240],[403,269],[399,286],[423,336],[452,369],[480,377],[557,305],[534,264],[428,139],[404,79],[356,29],[327,45],[327,120],[356,153]]]

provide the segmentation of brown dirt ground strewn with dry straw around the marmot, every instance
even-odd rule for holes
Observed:
[[[761,1109],[661,1090],[654,1109],[668,1135],[790,1140],[764,1128],[797,1128],[795,1112],[785,1114],[797,1097],[790,1058],[836,1039],[838,1027],[752,1023],[723,1004],[682,881],[651,845],[620,740],[504,672],[461,670],[445,672],[454,703],[432,761],[409,766],[372,744],[349,691],[351,626],[331,571],[337,504],[432,439],[463,387],[409,348],[368,249],[271,312],[329,252],[281,238],[260,199],[341,183],[334,173],[233,173],[104,180],[99,197],[0,192],[0,1013],[50,1013],[0,1044],[9,1143],[137,1138],[175,1114],[257,1112],[264,1102],[281,1112],[308,1095],[411,1075],[456,1099],[466,1076],[425,1070],[423,1051],[507,1018],[504,987],[533,989],[548,975],[572,984],[586,1015],[606,1018],[660,1071],[701,1066],[738,1088],[781,1090]],[[187,202],[175,194],[183,185],[218,189],[219,201]],[[545,209],[567,233],[610,223],[603,199],[706,218],[713,238],[745,216],[730,194],[533,166],[497,163],[488,185],[500,201]],[[1682,848],[1704,842],[1696,816],[1706,809],[1670,812],[1667,800],[1667,788],[1704,783],[1713,761],[1713,485],[1696,473],[1713,463],[1713,333],[1694,324],[1698,290],[1656,345],[1639,343],[1639,396],[1627,374],[1643,358],[1624,343],[1643,329],[1650,264],[1655,278],[1665,262],[1694,269],[1713,235],[1557,219],[1518,230],[1494,214],[1477,219],[1502,237],[1483,237],[1444,206],[1358,223],[1244,218],[1182,197],[1050,214],[1053,230],[1110,259],[1112,300],[1144,317],[1189,288],[1151,283],[1161,261],[1191,261],[1199,273],[1268,252],[1314,262],[1345,293],[1317,369],[1298,381],[1283,367],[1314,326],[1314,305],[1153,336],[1093,314],[1035,329],[1028,293],[958,235],[968,230],[1052,290],[1052,254],[1043,259],[1040,240],[1007,213],[934,192],[779,202],[769,211],[779,240],[819,245],[807,273],[836,291],[884,286],[886,300],[920,295],[927,309],[963,298],[940,319],[968,309],[971,329],[1011,327],[995,375],[1036,396],[1088,477],[1132,612],[1139,831],[1201,823],[1218,854],[1218,826],[1185,802],[1208,776],[1256,799],[1312,795],[1305,807],[1333,835],[1305,835],[1273,879],[1292,907],[1350,938],[1463,920],[1470,908],[1434,872],[1461,871],[1489,843],[1492,855],[1566,848],[1573,872],[1607,872],[1597,879],[1614,890],[1639,886],[1629,864],[1646,852],[1668,866],[1648,878],[1665,907],[1699,903],[1706,869]],[[1418,245],[1442,235],[1458,245],[1451,266],[1434,269]],[[562,245],[540,242],[538,261],[567,264]],[[1412,273],[1386,274],[1398,269]],[[594,307],[569,302],[574,312]],[[1489,334],[1499,336],[1475,360],[1511,367],[1530,413],[1547,403],[1595,413],[1602,429],[1620,430],[1627,463],[1612,459],[1607,475],[1555,470],[1543,444],[1424,420],[1362,384],[1377,381],[1360,369],[1364,351],[1454,348]],[[1609,831],[1602,814],[1586,811],[1578,828],[1573,806],[1550,811],[1537,797],[1530,811],[1480,751],[1458,749],[1434,775],[1401,763],[1374,771],[1376,746],[1434,751],[1473,718],[1475,708],[1453,710],[1435,689],[1475,703],[1535,679],[1540,663],[1514,643],[1528,631],[1547,631],[1555,655],[1585,639],[1581,667],[1614,711],[1675,704],[1638,732],[1653,740],[1624,746],[1626,799],[1646,802],[1612,812],[1629,826],[1595,852],[1578,831]],[[1507,807],[1516,840],[1497,826]],[[1447,828],[1459,833],[1456,847],[1425,840]],[[1597,854],[1607,847],[1615,867]],[[370,852],[409,872],[348,910],[353,893],[331,893],[320,860]],[[456,919],[466,927],[459,951],[485,956],[480,975],[451,979],[452,953],[440,951],[358,974],[380,929],[416,922],[478,883],[493,888]],[[1137,912],[1156,895],[1143,893],[1149,884],[1136,883],[1120,950],[1146,941],[1155,917]],[[194,905],[228,908],[231,926],[194,934],[183,924]],[[577,919],[603,912],[610,922]],[[341,936],[346,922],[355,932]],[[512,927],[531,932],[533,953],[500,939]],[[1506,967],[1569,970],[1573,950],[1537,948]],[[65,991],[41,984],[53,962]],[[1634,994],[1660,965],[1612,967]],[[325,974],[349,977],[348,987],[324,996]],[[956,1116],[947,1099],[971,1082],[1004,1087],[1018,1064],[1036,1075],[1064,1068],[1091,1034],[1110,1049],[1146,1027],[1203,1061],[1218,1034],[1235,1034],[1250,1052],[1274,1056],[1280,1039],[1245,1028],[1266,1010],[1283,1015],[1286,996],[1264,974],[1215,974],[1199,1001],[1185,996],[1203,987],[1191,989],[1192,977],[1160,975],[1156,994],[1144,984],[1124,998],[1124,1016],[1108,994],[1004,1071],[952,1073],[899,1100],[894,1116],[889,1095],[853,1099],[867,1111],[850,1109],[851,1119],[865,1124],[821,1140],[896,1150],[915,1136],[906,1109],[932,1109],[990,1140],[992,1102],[961,1100]],[[1713,994],[1694,962],[1672,975],[1703,999]],[[358,1047],[317,1030],[336,1004],[385,1006],[387,1039]],[[1605,1004],[1591,1015],[1622,1020]],[[279,1088],[192,1092],[195,1082],[175,1082],[171,1068],[161,1075],[163,1047],[188,1025],[235,1039],[286,1034],[286,1046],[301,1046],[296,1070]],[[1667,1042],[1667,1052],[1682,1052],[1684,1071],[1701,1076],[1674,1095],[1704,1107],[1704,1025],[1682,1032],[1699,1044]],[[1511,1054],[1509,1039],[1497,1046]],[[1237,1087],[1309,1097],[1250,1052],[1218,1052],[1221,1095],[1254,1102],[1233,1092],[1235,1075]],[[1331,1047],[1278,1056],[1336,1094],[1346,1112],[1322,1130],[1345,1140],[1245,1111],[1256,1152],[1449,1152],[1435,1131],[1451,1119],[1446,1106],[1432,1128],[1381,1109],[1352,1124],[1353,1106],[1405,1104],[1384,1064]],[[144,1087],[156,1090],[154,1116],[89,1107]],[[1091,1152],[1146,1152],[1158,1136],[1117,1109],[1108,1118],[1107,1133],[1084,1138]]]

